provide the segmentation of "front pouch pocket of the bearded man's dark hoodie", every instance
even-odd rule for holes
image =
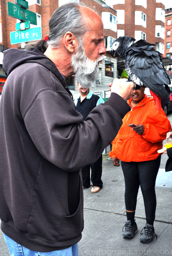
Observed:
[[[57,242],[65,242],[67,240],[72,240],[78,237],[84,228],[84,218],[83,218],[83,186],[80,180],[80,199],[79,205],[76,212],[73,215],[65,216],[62,221],[60,233],[57,238]]]

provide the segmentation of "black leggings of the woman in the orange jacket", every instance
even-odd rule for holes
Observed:
[[[154,221],[157,206],[155,181],[160,167],[161,156],[143,162],[121,162],[125,179],[126,210],[135,211],[139,186],[142,191],[146,220]]]

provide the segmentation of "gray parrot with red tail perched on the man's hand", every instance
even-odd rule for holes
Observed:
[[[158,99],[159,104],[161,100],[158,96],[170,103],[171,91],[168,85],[171,81],[163,66],[160,52],[155,51],[155,45],[146,40],[135,41],[135,38],[128,36],[117,38],[112,43],[111,56],[125,58],[129,80],[133,81],[135,86],[148,87],[156,105],[156,100]]]

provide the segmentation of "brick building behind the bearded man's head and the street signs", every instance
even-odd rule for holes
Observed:
[[[15,0],[9,0],[15,4]],[[41,27],[41,38],[49,35],[49,27],[47,20],[51,17],[56,8],[71,0],[27,0],[29,3],[29,10],[36,13],[37,25],[30,24],[30,28]],[[83,0],[83,2],[86,0]],[[88,3],[88,1],[86,1]],[[113,8],[106,5],[105,0],[90,0],[90,7],[95,7],[100,17],[104,22],[105,31],[105,46],[107,49],[106,59],[99,65],[99,77],[96,81],[97,86],[105,86],[112,82],[114,77],[117,77],[117,60],[110,55],[110,47],[112,41],[117,38],[117,12]],[[0,1],[0,44],[6,48],[18,48],[19,44],[12,44],[10,41],[10,32],[16,30],[16,23],[20,20],[8,15],[7,2]],[[23,40],[24,41],[24,40]],[[0,60],[0,69],[2,71],[2,61]],[[0,74],[0,79],[1,79]],[[77,81],[75,78],[66,80],[70,89],[77,88]],[[92,85],[95,86],[95,85]]]

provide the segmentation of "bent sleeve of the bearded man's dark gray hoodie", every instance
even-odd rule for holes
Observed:
[[[75,171],[98,159],[117,135],[128,108],[125,100],[111,93],[106,104],[98,105],[82,121],[68,93],[42,90],[25,112],[24,122],[45,159]]]

